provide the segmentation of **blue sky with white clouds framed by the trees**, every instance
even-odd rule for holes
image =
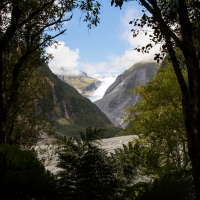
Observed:
[[[153,59],[158,47],[150,54],[141,54],[134,48],[148,43],[148,37],[140,34],[132,37],[129,21],[141,16],[142,8],[136,1],[124,3],[122,9],[110,5],[110,0],[101,3],[100,24],[88,31],[87,24],[80,19],[79,10],[73,11],[73,18],[67,22],[64,35],[57,38],[57,49],[48,47],[54,55],[50,69],[56,74],[86,72],[89,76],[113,72],[120,74],[134,63]]]

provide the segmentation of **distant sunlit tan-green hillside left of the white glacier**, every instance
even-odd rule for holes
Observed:
[[[101,81],[89,77],[85,72],[79,75],[57,75],[62,81],[74,87],[83,96],[90,96],[101,85]]]

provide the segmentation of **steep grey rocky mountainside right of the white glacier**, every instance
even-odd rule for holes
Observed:
[[[102,99],[94,103],[104,112],[117,127],[125,127],[124,110],[135,105],[138,96],[134,94],[139,84],[145,84],[153,78],[158,67],[155,62],[140,62],[119,75],[116,81],[106,90]]]

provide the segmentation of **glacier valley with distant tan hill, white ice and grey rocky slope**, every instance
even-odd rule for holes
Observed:
[[[92,78],[80,72],[81,74],[77,76],[58,77],[98,106],[113,126],[125,128],[127,123],[123,120],[124,112],[128,106],[135,105],[140,98],[134,94],[135,88],[152,79],[157,70],[155,62],[140,62],[119,76],[107,74]]]

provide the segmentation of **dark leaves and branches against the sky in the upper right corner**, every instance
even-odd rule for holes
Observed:
[[[111,5],[122,8],[123,3],[128,1],[130,0],[111,0]],[[184,10],[184,12],[182,10],[182,13],[179,13],[183,2],[185,3],[184,6],[186,6],[184,9],[187,9],[188,12],[190,12],[189,14],[186,10]],[[197,16],[199,15],[200,4],[198,1],[193,0],[183,2],[181,3],[166,0],[152,2],[149,0],[139,0],[138,3],[143,6],[143,15],[140,19],[130,21],[129,24],[134,27],[131,30],[133,32],[133,37],[137,37],[138,34],[143,32],[146,36],[149,36],[150,42],[146,46],[139,45],[135,50],[142,53],[149,53],[150,49],[153,48],[155,44],[159,43],[161,44],[160,53],[158,52],[154,57],[154,59],[159,62],[164,59],[169,50],[167,49],[167,39],[165,36],[166,34],[169,34],[172,39],[172,45],[178,46],[178,48],[182,51],[183,47],[180,44],[180,35],[183,34],[181,33],[181,30],[185,28],[183,27],[183,24],[181,24],[182,19],[179,18],[182,16],[182,18],[187,18],[187,23],[191,24],[190,32],[192,33],[191,35],[193,35],[195,50],[199,52],[197,44],[200,42],[198,34],[200,27],[198,25],[199,17]],[[188,20],[190,20],[190,22],[188,22]],[[189,25],[185,24],[185,26]],[[168,30],[171,27],[173,28]],[[164,31],[167,31],[167,33],[164,34]],[[179,53],[180,52],[178,52],[178,54]],[[178,54],[176,54],[177,58]]]

